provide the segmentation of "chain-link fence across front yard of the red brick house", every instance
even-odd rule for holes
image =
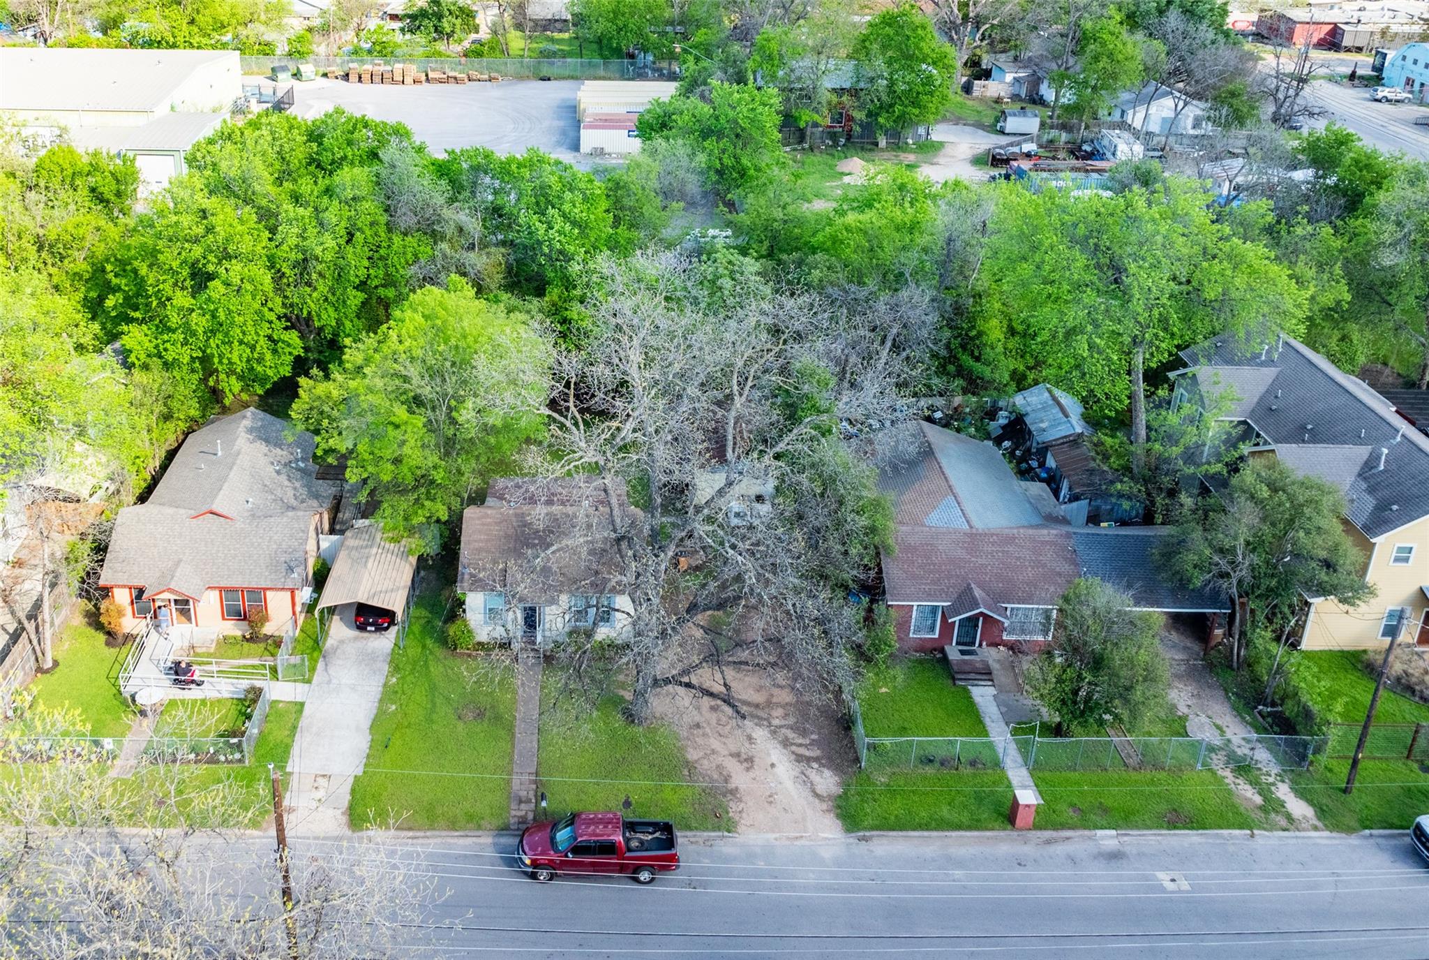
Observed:
[[[855,715],[853,740],[865,770],[992,770],[1016,750],[1033,770],[1303,770],[1325,753],[1325,737],[866,737]]]

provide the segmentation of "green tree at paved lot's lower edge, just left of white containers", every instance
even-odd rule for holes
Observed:
[[[524,293],[573,289],[582,266],[612,242],[600,182],[536,147],[514,156],[453,150],[433,169],[480,220],[487,243],[506,252],[506,273]]]

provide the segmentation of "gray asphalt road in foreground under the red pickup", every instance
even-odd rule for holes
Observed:
[[[699,837],[650,887],[534,883],[509,837],[393,843],[450,891],[413,957],[1429,957],[1403,834]]]

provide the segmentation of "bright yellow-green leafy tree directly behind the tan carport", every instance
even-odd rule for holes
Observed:
[[[392,322],[349,346],[332,373],[300,381],[293,421],[379,504],[393,539],[440,547],[473,489],[536,439],[550,346],[526,315],[453,278],[417,290]]]

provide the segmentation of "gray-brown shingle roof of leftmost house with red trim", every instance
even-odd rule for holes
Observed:
[[[194,598],[302,587],[314,515],[339,485],[316,479],[313,435],[287,441],[286,429],[247,409],[190,434],[149,501],[119,511],[100,584]]]

